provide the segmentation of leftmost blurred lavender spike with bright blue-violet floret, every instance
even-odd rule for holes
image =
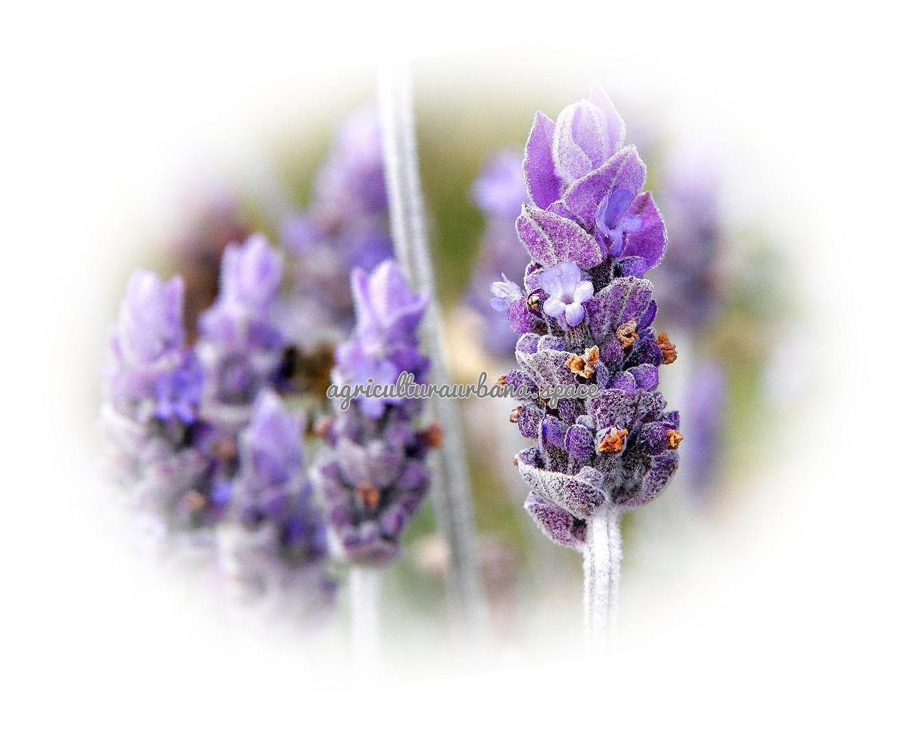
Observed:
[[[130,276],[103,378],[101,429],[130,498],[157,533],[213,524],[209,463],[192,446],[201,370],[185,345],[183,284],[145,271]]]

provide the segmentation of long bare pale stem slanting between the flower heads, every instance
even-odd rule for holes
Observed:
[[[387,63],[379,72],[384,178],[390,203],[393,249],[416,289],[429,294],[423,335],[431,357],[431,378],[448,383],[442,326],[425,229],[419,178],[410,72],[404,63]],[[448,607],[458,630],[478,640],[487,631],[487,606],[478,576],[473,534],[471,484],[458,405],[431,399],[429,409],[443,429],[443,446],[432,457],[432,489],[440,534],[448,545]]]

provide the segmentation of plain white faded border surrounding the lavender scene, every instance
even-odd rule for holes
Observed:
[[[901,120],[884,108],[900,94],[895,21],[870,3],[853,16],[795,3],[421,13],[58,5],[13,10],[0,30],[4,725],[880,721],[903,649],[902,345],[884,322],[901,307]],[[753,472],[745,514],[683,549],[694,565],[641,602],[604,667],[496,659],[452,677],[338,679],[293,641],[237,630],[105,528],[84,433],[92,349],[136,232],[163,230],[199,164],[241,164],[307,100],[329,99],[319,70],[388,48],[499,49],[509,63],[507,43],[532,59],[525,85],[580,91],[593,70],[728,147],[738,195],[789,246],[805,398]]]

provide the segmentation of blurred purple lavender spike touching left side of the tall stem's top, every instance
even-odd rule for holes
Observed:
[[[342,123],[314,183],[313,201],[284,221],[281,240],[294,255],[294,287],[333,325],[352,322],[349,275],[392,255],[377,111],[365,107]]]

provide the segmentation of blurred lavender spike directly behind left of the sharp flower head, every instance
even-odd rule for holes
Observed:
[[[516,335],[506,321],[488,310],[487,282],[502,276],[505,284],[522,278],[528,263],[525,251],[517,244],[513,219],[519,215],[528,199],[522,177],[522,156],[516,152],[499,152],[488,159],[481,175],[472,187],[472,198],[485,215],[485,233],[472,278],[463,303],[482,319],[481,336],[488,352],[510,359],[516,345]],[[516,287],[516,296],[519,288]],[[508,306],[506,288],[494,291],[496,300],[491,307],[503,312]]]

